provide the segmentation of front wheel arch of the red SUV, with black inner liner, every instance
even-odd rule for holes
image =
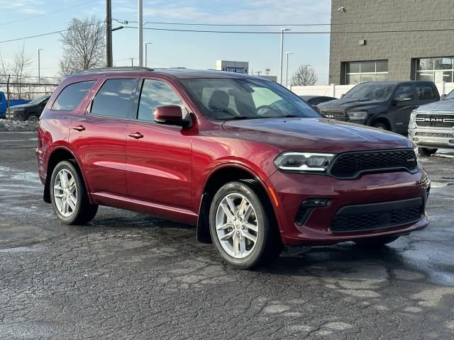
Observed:
[[[216,192],[224,184],[231,181],[248,181],[262,193],[267,199],[267,204],[272,208],[273,217],[276,227],[279,228],[279,220],[276,215],[275,204],[272,203],[272,195],[270,188],[263,179],[258,176],[252,169],[240,164],[223,164],[212,169],[204,183],[199,205],[199,218],[196,225],[197,240],[202,243],[211,243],[211,235],[209,232],[209,209],[211,200],[213,200]]]

